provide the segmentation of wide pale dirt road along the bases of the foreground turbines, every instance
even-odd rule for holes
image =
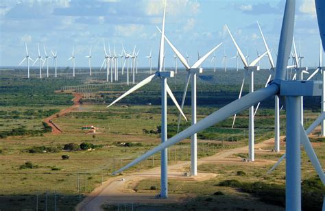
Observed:
[[[281,137],[281,139],[284,137]],[[265,151],[263,148],[274,145],[274,138],[265,140],[264,142],[255,145],[256,153],[258,151]],[[256,160],[255,162],[242,162],[241,158],[229,158],[234,153],[248,153],[248,147],[239,147],[235,149],[229,149],[216,153],[214,156],[201,158],[197,161],[197,164],[215,163],[215,164],[274,164],[274,161],[270,160]],[[213,173],[198,173],[195,177],[184,177],[182,173],[191,162],[179,162],[177,164],[169,165],[168,177],[169,179],[180,179],[182,181],[204,181],[216,176]],[[136,193],[132,190],[139,181],[147,178],[157,177],[160,178],[160,167],[154,169],[141,171],[138,173],[132,173],[130,175],[123,175],[118,177],[112,177],[108,179],[102,186],[99,186],[93,190],[93,192],[78,204],[77,210],[102,210],[103,204],[117,204],[117,203],[177,203],[184,201],[188,198],[188,195],[169,195],[168,199],[159,200],[155,199],[152,194]],[[122,181],[124,178],[125,181]]]

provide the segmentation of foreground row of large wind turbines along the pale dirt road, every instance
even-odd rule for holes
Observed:
[[[320,12],[317,14],[317,19],[320,25],[321,32],[321,38],[324,41],[325,40],[325,18],[324,18],[324,12],[325,12],[325,2],[316,0],[316,7],[317,12],[320,10]],[[258,105],[268,99],[269,97],[275,97],[276,98],[276,105],[275,105],[275,123],[274,127],[276,129],[276,136],[279,135],[278,130],[278,112],[280,110],[279,106],[279,99],[282,99],[282,104],[285,103],[285,110],[286,110],[286,121],[287,121],[287,127],[286,127],[286,153],[285,157],[287,158],[286,162],[286,210],[301,210],[301,167],[300,167],[300,145],[304,147],[304,150],[307,153],[307,156],[311,160],[311,164],[315,167],[315,170],[317,172],[317,175],[319,175],[321,181],[325,185],[325,175],[324,171],[322,169],[322,166],[317,159],[317,156],[315,154],[315,151],[313,150],[313,147],[311,145],[311,142],[309,141],[309,138],[307,134],[309,134],[317,125],[322,123],[322,128],[324,128],[324,118],[325,118],[325,112],[324,112],[324,94],[325,94],[325,74],[322,74],[323,81],[317,82],[311,80],[311,78],[316,75],[317,73],[322,73],[324,71],[324,67],[322,66],[322,44],[320,47],[320,63],[317,69],[309,76],[307,80],[303,79],[303,74],[308,73],[307,68],[302,66],[302,58],[299,58],[297,52],[296,52],[296,45],[294,43],[293,38],[293,28],[295,23],[295,11],[296,11],[296,0],[287,0],[285,4],[285,12],[283,16],[282,21],[282,29],[280,33],[280,42],[278,47],[278,55],[277,55],[277,61],[276,65],[274,63],[274,60],[272,58],[272,55],[270,53],[269,47],[267,45],[267,42],[263,36],[263,32],[261,30],[261,27],[258,25],[261,35],[263,37],[263,42],[265,45],[266,52],[262,55],[258,55],[258,58],[254,60],[253,62],[248,63],[245,56],[243,55],[241,49],[239,48],[239,45],[237,45],[237,42],[235,41],[234,37],[232,36],[230,29],[227,27],[228,33],[230,34],[230,37],[232,38],[232,41],[234,43],[234,46],[237,49],[237,52],[239,54],[239,57],[241,58],[241,61],[244,64],[244,71],[245,71],[245,77],[249,77],[250,81],[250,93],[248,95],[245,95],[241,97],[241,92],[243,90],[243,84],[245,82],[245,77],[243,78],[243,83],[241,87],[241,91],[239,94],[239,99],[233,101],[232,103],[229,103],[228,105],[224,106],[223,108],[220,108],[216,112],[213,112],[213,114],[210,114],[206,116],[206,118],[202,119],[201,121],[196,123],[196,75],[202,73],[202,68],[200,68],[200,64],[208,57],[210,53],[215,51],[221,44],[217,45],[215,48],[213,48],[211,51],[209,51],[206,55],[204,55],[202,58],[197,60],[193,66],[189,66],[189,62],[186,61],[184,56],[174,47],[171,42],[168,40],[167,36],[165,35],[165,12],[166,12],[166,2],[165,2],[165,9],[163,14],[163,27],[161,32],[161,38],[160,38],[160,50],[159,50],[159,58],[158,58],[158,69],[154,75],[150,75],[146,79],[144,79],[139,84],[136,84],[133,88],[125,92],[121,97],[117,98],[115,101],[113,101],[108,107],[112,106],[114,103],[117,103],[117,101],[123,99],[123,97],[126,97],[127,95],[130,95],[130,93],[134,92],[135,90],[141,88],[142,86],[145,86],[145,84],[148,84],[149,82],[152,82],[153,79],[160,79],[162,86],[162,121],[161,121],[161,144],[158,145],[158,147],[155,147],[152,150],[147,151],[143,154],[143,156],[140,156],[139,158],[136,158],[130,164],[127,164],[126,166],[123,166],[123,168],[119,169],[113,174],[120,173],[121,171],[124,171],[125,169],[130,168],[130,166],[134,166],[135,164],[149,158],[149,156],[154,155],[154,153],[161,153],[161,190],[160,190],[160,197],[166,198],[168,197],[168,177],[167,177],[167,148],[171,147],[172,145],[175,145],[176,143],[180,142],[181,140],[184,140],[184,138],[187,138],[191,136],[191,168],[193,166],[195,167],[196,160],[193,160],[195,158],[195,150],[196,150],[196,143],[195,143],[195,134],[197,132],[200,132],[207,127],[210,127],[212,125],[215,125],[216,123],[219,123],[220,121],[224,121],[228,117],[238,114],[239,112],[249,109],[250,111],[250,160],[254,160],[254,114],[256,113],[256,110],[254,111],[254,105]],[[323,12],[323,13],[322,13]],[[323,18],[321,17],[323,16]],[[162,65],[163,65],[163,52],[165,49],[165,41],[169,44],[171,49],[174,53],[176,53],[177,57],[180,59],[182,64],[186,67],[186,71],[188,73],[186,77],[186,84],[184,89],[184,95],[183,99],[186,95],[186,89],[189,84],[189,80],[191,79],[192,83],[192,125],[188,127],[187,129],[184,129],[184,131],[179,132],[176,134],[176,136],[173,136],[172,138],[169,138],[167,140],[167,92],[168,92],[168,85],[167,85],[167,77],[173,77],[173,71],[163,71]],[[294,66],[288,66],[288,60],[289,55],[291,53],[291,48],[293,44],[294,49]],[[324,46],[323,46],[324,47]],[[269,62],[271,65],[270,69],[270,76],[267,79],[267,82],[265,84],[265,88],[261,88],[260,90],[254,91],[254,72],[258,71],[259,66],[258,61],[261,60],[261,58],[267,55],[269,58]],[[289,77],[288,74],[288,68],[293,68],[295,73],[293,77]],[[272,76],[274,76],[274,79],[271,80]],[[171,96],[173,96],[171,94]],[[302,115],[303,115],[303,105],[302,105],[302,97],[303,96],[322,96],[322,114],[320,117],[308,128],[304,129],[302,124]],[[173,97],[172,97],[173,98]],[[174,101],[175,102],[175,101]],[[176,101],[176,105],[179,108],[179,105]],[[182,108],[182,106],[181,106]],[[184,113],[180,110],[181,114],[184,116]],[[184,119],[186,117],[184,116]],[[323,131],[324,135],[324,131]],[[278,140],[275,139],[275,142]],[[278,147],[278,143],[276,143],[276,146]],[[193,175],[195,175],[195,172],[193,172],[193,169],[191,169]],[[323,207],[324,209],[324,207]]]

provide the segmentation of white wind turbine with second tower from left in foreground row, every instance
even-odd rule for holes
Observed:
[[[161,33],[160,29],[158,29],[159,32]],[[206,55],[204,55],[202,58],[199,58],[197,60],[197,62],[195,62],[192,66],[189,66],[189,63],[186,62],[186,59],[184,58],[184,56],[180,53],[180,51],[178,51],[178,49],[176,49],[176,47],[173,46],[173,44],[169,41],[169,39],[167,38],[167,36],[165,36],[165,40],[167,41],[167,43],[169,44],[169,46],[171,47],[171,49],[173,50],[173,53],[175,53],[178,58],[180,59],[180,62],[182,62],[182,64],[184,65],[186,72],[187,72],[187,77],[186,77],[186,84],[185,84],[185,88],[184,88],[184,93],[183,93],[183,97],[182,97],[182,104],[180,105],[180,109],[182,110],[184,108],[184,101],[185,101],[185,97],[186,97],[186,92],[187,92],[187,88],[189,86],[189,81],[191,79],[191,107],[192,107],[192,121],[191,121],[191,125],[195,125],[195,123],[197,122],[197,115],[196,115],[196,77],[197,77],[197,73],[202,73],[203,69],[200,68],[200,65],[206,60],[206,58],[208,58],[208,56],[213,53],[218,47],[220,47],[220,45],[222,45],[222,42],[217,45],[216,47],[214,47],[211,51],[209,51],[208,53],[206,53]],[[178,131],[180,128],[180,117],[178,118]],[[197,134],[193,134],[193,136],[191,136],[191,175],[197,175]]]

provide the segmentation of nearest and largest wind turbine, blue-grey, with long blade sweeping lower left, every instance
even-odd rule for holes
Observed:
[[[320,3],[322,2],[322,3]],[[322,6],[323,11],[325,10],[324,1],[316,1],[317,6]],[[158,147],[147,151],[136,158],[130,164],[123,166],[123,168],[115,171],[113,174],[117,174],[125,169],[130,168],[149,158],[149,156],[154,155],[159,151],[166,149],[176,143],[180,142],[184,138],[192,136],[193,134],[202,131],[220,121],[228,119],[228,117],[241,112],[249,108],[252,105],[255,105],[259,101],[273,97],[274,95],[280,95],[286,98],[287,105],[287,129],[286,129],[286,145],[287,145],[287,162],[286,162],[286,197],[285,197],[285,206],[286,210],[301,210],[301,166],[300,166],[300,143],[304,146],[304,150],[307,153],[307,156],[311,160],[311,163],[315,167],[318,176],[322,180],[322,183],[325,185],[325,176],[322,166],[320,165],[319,160],[313,151],[313,147],[309,141],[308,136],[306,136],[306,131],[300,124],[300,112],[299,112],[299,96],[315,96],[320,94],[319,85],[317,82],[298,82],[298,81],[287,81],[286,79],[286,70],[287,70],[287,58],[289,57],[292,37],[293,37],[293,26],[295,18],[295,0],[287,0],[285,5],[285,14],[283,16],[282,29],[280,34],[280,42],[278,49],[278,58],[276,62],[276,76],[269,86],[266,88],[261,88],[256,92],[252,92],[248,95],[245,95],[241,99],[237,99],[232,103],[220,108],[213,114],[206,116],[206,118],[199,121],[197,124],[192,125],[191,127],[180,132],[176,136],[169,138],[166,142],[163,142]],[[323,13],[324,14],[324,13]],[[318,16],[318,21],[322,21],[321,32],[325,32],[325,18],[322,18],[322,14]],[[320,23],[321,25],[321,23]],[[323,36],[325,40],[325,34]],[[325,115],[321,116],[324,118]],[[315,124],[317,121],[315,122]],[[325,208],[325,203],[323,204],[323,210]]]

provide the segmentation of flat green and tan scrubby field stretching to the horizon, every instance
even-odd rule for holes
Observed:
[[[198,119],[204,118],[221,106],[237,99],[243,74],[236,74],[231,82],[226,83],[226,78],[236,71],[227,73],[204,73],[198,79],[197,101]],[[94,78],[79,75],[76,79],[59,77],[58,79],[25,79],[17,78],[23,75],[23,70],[3,71],[0,74],[0,209],[35,209],[38,197],[39,208],[45,207],[46,195],[48,208],[53,209],[54,198],[60,210],[73,210],[87,193],[90,193],[102,181],[111,177],[110,173],[121,165],[127,164],[132,159],[145,153],[160,142],[160,92],[159,83],[150,84],[134,93],[121,103],[110,109],[106,108],[117,93],[127,90],[131,86],[121,84],[112,85],[103,82],[100,75]],[[236,72],[237,73],[237,72]],[[139,73],[139,79],[147,74]],[[256,74],[256,88],[263,86],[268,75],[267,71]],[[184,74],[176,75],[169,80],[173,92],[180,101],[184,86]],[[101,79],[100,79],[101,78]],[[100,79],[100,80],[99,80]],[[122,78],[123,79],[123,78]],[[84,95],[91,93],[93,97],[82,99],[82,105],[73,112],[60,116],[53,121],[60,126],[63,133],[54,135],[46,131],[43,119],[72,105],[73,96],[67,92],[78,90]],[[245,92],[247,92],[247,86]],[[191,101],[188,95],[184,113],[191,119]],[[305,126],[308,127],[319,113],[320,99],[305,99]],[[273,99],[261,103],[261,109],[255,116],[256,142],[274,136]],[[151,103],[152,105],[148,105]],[[168,108],[168,133],[173,136],[177,133],[178,111],[169,102]],[[94,125],[98,128],[97,134],[86,134],[82,130],[84,125]],[[182,120],[180,129],[191,125]],[[232,118],[213,125],[198,134],[198,157],[211,156],[217,151],[241,147],[248,144],[248,111],[237,116],[235,128],[231,129]],[[281,111],[281,133],[285,132],[285,111]],[[2,134],[2,135],[1,135]],[[4,136],[5,135],[5,136]],[[97,148],[87,151],[64,151],[64,145],[75,143],[91,143]],[[127,143],[127,145],[125,145]],[[324,163],[324,142],[317,142],[316,152]],[[46,149],[45,151],[43,149]],[[34,151],[34,153],[31,153]],[[35,152],[36,151],[36,152]],[[169,149],[169,163],[189,160],[189,140],[184,140],[179,145]],[[69,160],[62,160],[63,155],[69,155]],[[256,155],[256,159],[277,160],[278,156]],[[315,171],[306,156],[302,154],[303,179],[315,176]],[[138,169],[152,168],[150,162],[141,162],[127,172]],[[154,156],[154,166],[160,164],[160,155]],[[32,166],[26,165],[31,162]],[[27,166],[27,167],[26,167]],[[32,168],[31,168],[32,167]],[[199,171],[213,172],[221,176],[207,182],[191,185],[177,182],[176,188],[171,188],[171,193],[193,193],[194,198],[189,206],[197,203],[208,203],[210,208],[215,208],[220,201],[241,199],[245,202],[250,199],[256,201],[258,206],[265,206],[258,196],[252,193],[241,193],[235,187],[215,186],[219,182],[237,179],[239,182],[265,182],[283,186],[285,180],[285,166],[280,165],[272,175],[265,175],[270,166],[211,166],[204,164]],[[238,176],[237,171],[244,171],[245,176]],[[250,179],[248,179],[250,178]],[[79,182],[78,182],[79,181]],[[171,181],[171,184],[176,183]],[[141,182],[139,191],[148,190],[150,186],[159,186],[158,181],[150,180]],[[174,187],[174,186],[173,186]],[[200,191],[198,191],[200,190]],[[225,195],[213,195],[221,191]],[[155,193],[153,191],[153,193]],[[212,199],[207,199],[212,198]],[[208,200],[208,201],[206,201]],[[212,201],[210,201],[212,200]],[[199,203],[200,202],[200,203]],[[240,204],[240,203],[239,203]],[[182,210],[179,206],[174,208]],[[190,207],[188,207],[190,208]],[[222,208],[222,206],[221,206]]]

